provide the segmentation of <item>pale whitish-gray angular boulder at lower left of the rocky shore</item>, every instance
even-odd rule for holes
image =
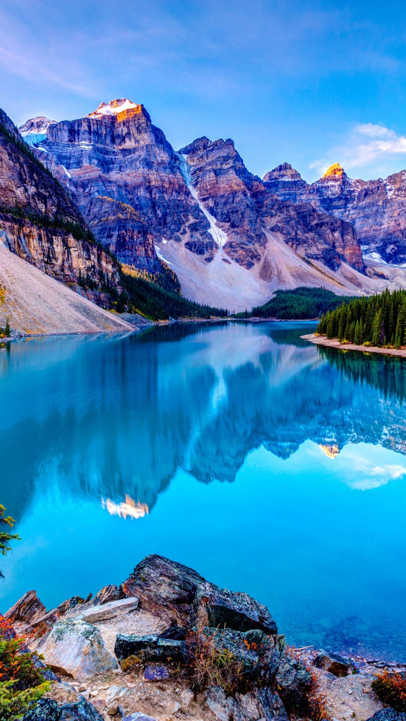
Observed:
[[[87,678],[94,673],[117,668],[117,661],[107,651],[99,629],[81,619],[61,619],[37,646],[52,671],[73,678]]]

